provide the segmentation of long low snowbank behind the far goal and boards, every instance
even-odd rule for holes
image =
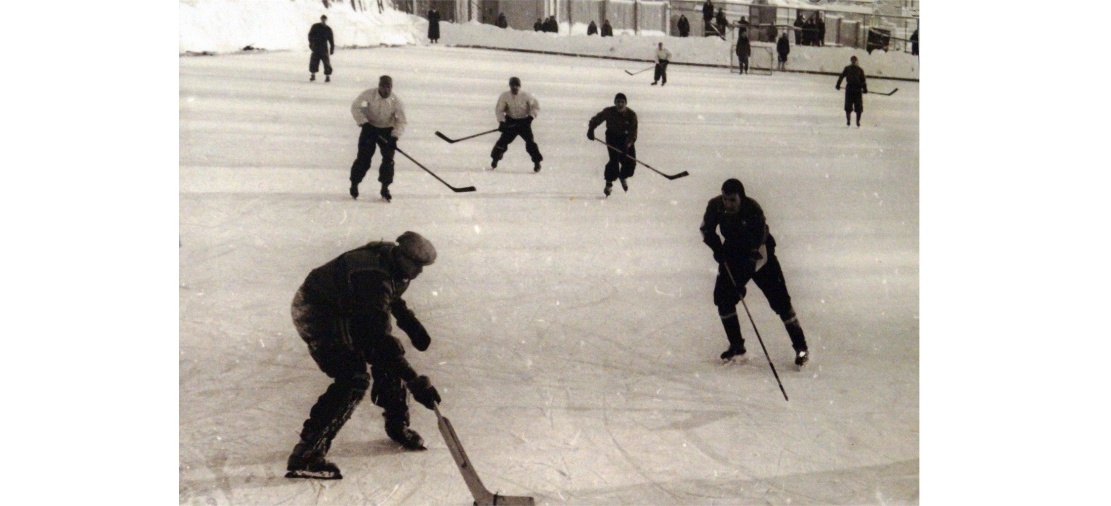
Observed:
[[[424,21],[420,27],[427,27]],[[585,28],[575,23],[572,34],[567,34],[565,23],[560,33],[540,31],[502,29],[493,24],[479,22],[440,23],[440,43],[444,46],[482,46],[500,49],[526,49],[533,51],[552,51],[571,54],[614,57],[650,61],[655,56],[655,44],[671,50],[672,62],[729,65],[729,54],[734,47],[717,37],[665,37],[661,32],[641,31],[640,36],[630,33],[615,37],[587,36]],[[581,31],[578,30],[582,28]],[[424,32],[422,32],[423,34]],[[583,33],[583,34],[580,34]],[[424,39],[422,37],[422,39]],[[770,42],[752,42],[753,56],[750,65],[765,67],[768,57],[761,58],[759,47],[771,48],[774,57],[774,44]],[[767,53],[764,53],[767,54]],[[839,47],[791,46],[788,56],[788,70],[804,70],[811,72],[841,72],[849,65],[849,57],[857,56],[860,66],[870,77],[895,77],[918,79],[918,57],[904,52],[872,51],[869,54],[863,49]]]

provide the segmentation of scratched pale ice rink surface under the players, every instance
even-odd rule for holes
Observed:
[[[829,76],[738,76],[443,47],[342,50],[333,81],[307,52],[180,59],[180,502],[443,504],[470,494],[434,415],[408,453],[369,398],[329,457],[338,482],[283,477],[329,378],[290,321],[308,272],[404,230],[439,250],[406,299],[432,335],[408,357],[443,397],[488,488],[538,504],[919,502],[919,86],[870,80],[847,128]],[[867,69],[865,69],[867,70]],[[394,79],[409,127],[393,202],[347,195],[349,107]],[[518,139],[496,171],[493,105],[510,76],[541,105],[533,173]],[[588,119],[629,97],[644,167],[602,197]],[[604,127],[598,130],[599,137]],[[723,366],[715,264],[698,227],[737,177],[764,209],[813,353],[797,371],[753,284],[749,363]],[[403,333],[399,337],[408,345]]]

